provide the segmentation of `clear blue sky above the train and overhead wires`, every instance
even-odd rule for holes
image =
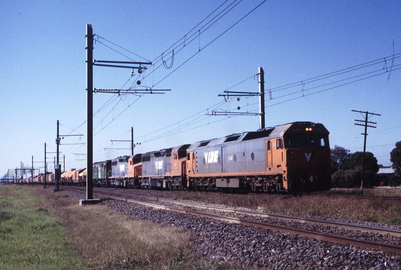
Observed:
[[[262,0],[233,1],[1,1],[0,177],[21,161],[30,166],[32,155],[35,166],[43,167],[45,142],[53,169],[57,120],[60,134],[84,135],[62,140],[66,170],[86,167],[80,160],[86,145],[71,144],[86,142],[87,23],[100,41],[95,59],[154,63],[140,77],[131,77],[130,69],[95,66],[94,87],[127,89],[140,79],[141,86],[171,89],[140,98],[94,94],[94,161],[130,154],[104,148],[129,148],[129,142],[111,140],[131,139],[131,126],[141,142],[136,153],[256,130],[257,116],[205,113],[237,106],[257,112],[257,97],[224,102],[218,94],[243,80],[231,90],[258,91],[253,75],[262,66],[266,126],[321,122],[331,147],[354,152],[363,150],[363,127],[354,125],[361,115],[351,108],[380,112],[369,118],[377,128],[368,129],[366,150],[389,165],[389,152],[401,140],[401,2],[265,1],[244,17]],[[237,5],[206,24],[230,4]],[[160,55],[170,65],[172,48],[167,69]],[[342,74],[309,80],[338,70]]]

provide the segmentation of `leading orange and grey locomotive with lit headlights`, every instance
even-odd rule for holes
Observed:
[[[183,185],[262,191],[329,189],[328,134],[320,123],[292,122],[191,144]]]

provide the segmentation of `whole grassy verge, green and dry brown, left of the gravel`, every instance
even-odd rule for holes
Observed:
[[[188,259],[181,228],[79,206],[52,189],[0,185],[1,269],[230,269]]]

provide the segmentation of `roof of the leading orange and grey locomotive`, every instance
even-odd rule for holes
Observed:
[[[282,137],[284,135],[284,133],[293,124],[302,125],[302,126],[314,126],[315,124],[319,124],[319,123],[306,122],[306,121],[290,122],[290,123],[286,123],[286,124],[276,125],[273,127],[266,127],[264,129],[258,129],[257,131],[246,131],[243,133],[227,135],[227,136],[224,136],[221,138],[201,140],[201,141],[192,143],[188,147],[187,151],[194,151],[195,148],[198,148],[198,147],[214,146],[214,145],[227,143],[230,141],[245,141],[245,140],[257,139],[257,138],[263,138],[263,137],[269,137],[269,138]]]

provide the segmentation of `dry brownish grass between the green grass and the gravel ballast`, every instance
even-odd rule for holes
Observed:
[[[62,192],[46,195],[49,213],[69,231],[73,249],[90,269],[233,269],[204,258],[188,259],[191,235],[178,227],[133,220],[104,205],[79,206]]]

